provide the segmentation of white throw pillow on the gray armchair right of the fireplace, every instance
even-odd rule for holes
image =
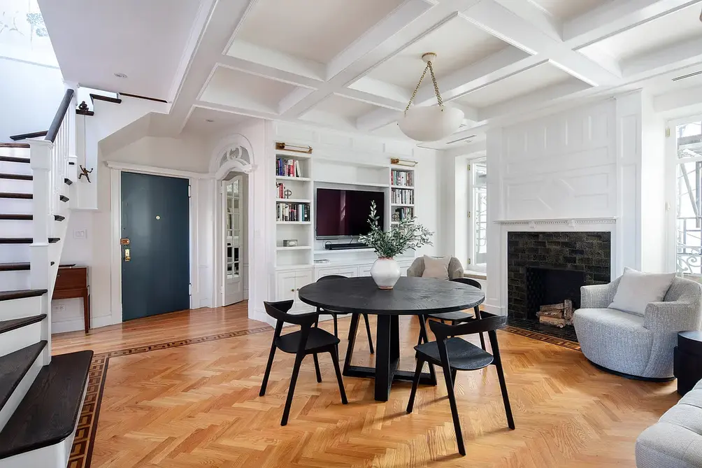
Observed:
[[[643,316],[649,303],[663,301],[673,278],[675,273],[641,273],[624,268],[624,275],[609,308]]]

